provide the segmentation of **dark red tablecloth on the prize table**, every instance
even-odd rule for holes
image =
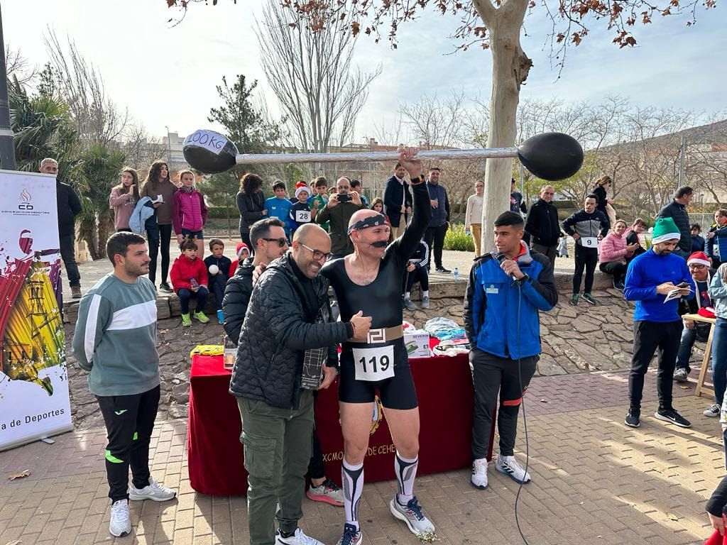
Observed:
[[[467,467],[472,462],[473,391],[467,355],[411,359],[421,431],[419,475]],[[196,491],[215,496],[244,495],[240,413],[228,394],[230,371],[222,356],[194,356],[190,371],[188,469]],[[337,384],[318,392],[316,423],[326,475],[340,484],[343,437]],[[494,426],[493,426],[494,436]],[[491,450],[491,449],[490,449]],[[394,477],[394,446],[386,420],[371,435],[364,461],[366,482]]]

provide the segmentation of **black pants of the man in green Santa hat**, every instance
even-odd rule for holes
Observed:
[[[659,393],[659,409],[672,408],[672,375],[681,342],[682,321],[634,322],[634,353],[629,373],[629,403],[631,408],[641,408],[643,376],[658,349],[656,390]]]

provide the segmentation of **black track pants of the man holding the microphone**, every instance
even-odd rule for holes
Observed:
[[[475,384],[475,413],[472,423],[474,459],[487,457],[492,431],[492,411],[498,394],[499,453],[501,456],[513,456],[523,392],[530,384],[538,359],[538,356],[522,358],[521,371],[518,375],[518,360],[499,358],[477,348],[470,352],[470,369]]]

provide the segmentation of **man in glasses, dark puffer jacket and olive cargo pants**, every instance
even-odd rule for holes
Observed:
[[[313,392],[301,389],[303,362],[323,360],[318,389],[329,387],[337,374],[336,344],[365,339],[371,325],[361,312],[333,320],[329,282],[318,275],[330,252],[326,231],[299,227],[292,250],[257,280],[242,324],[230,393],[242,418],[252,545],[319,544],[298,528],[314,421]]]

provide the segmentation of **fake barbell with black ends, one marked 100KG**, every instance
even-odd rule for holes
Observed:
[[[185,160],[193,169],[217,174],[235,164],[273,163],[335,163],[340,161],[396,161],[395,151],[343,153],[238,153],[236,145],[222,134],[200,129],[185,138],[182,145]],[[545,132],[525,140],[517,148],[485,148],[478,150],[420,150],[417,158],[490,159],[517,157],[535,176],[558,181],[575,174],[583,164],[583,148],[569,134]]]

